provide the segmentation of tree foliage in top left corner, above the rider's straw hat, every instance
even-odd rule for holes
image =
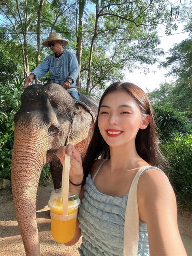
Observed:
[[[64,0],[46,2],[44,0],[0,0],[0,14],[5,20],[1,26],[6,28],[9,37],[17,38],[20,43],[24,77],[27,77],[30,73],[29,59],[32,58],[35,64],[38,64],[40,60],[39,55],[42,51],[40,34],[44,35],[41,39],[47,38],[47,35],[54,29],[56,32],[62,30],[69,37],[64,13],[76,2]],[[35,58],[34,55],[30,55],[29,49],[31,47],[34,49],[37,47]]]

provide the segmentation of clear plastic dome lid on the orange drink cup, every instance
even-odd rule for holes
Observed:
[[[79,195],[77,190],[73,192],[69,192],[68,196],[68,209],[76,209],[80,206],[81,201],[79,199]],[[51,196],[48,202],[49,208],[62,209],[63,202],[61,201],[61,188],[53,190],[51,192]]]

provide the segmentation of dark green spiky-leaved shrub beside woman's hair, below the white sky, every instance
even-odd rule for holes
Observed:
[[[188,132],[188,119],[180,112],[155,105],[154,113],[160,139],[169,139],[175,132]]]

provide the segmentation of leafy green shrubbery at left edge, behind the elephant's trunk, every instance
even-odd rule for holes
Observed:
[[[13,117],[21,105],[24,80],[15,79],[13,84],[0,83],[0,178],[11,180],[11,156],[14,141]],[[40,183],[46,184],[51,175],[49,164],[41,171]]]

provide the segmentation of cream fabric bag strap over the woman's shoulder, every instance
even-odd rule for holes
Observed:
[[[128,194],[124,227],[124,252],[123,256],[137,256],[139,243],[139,210],[137,204],[137,184],[140,175],[146,169],[158,169],[154,166],[143,166],[137,171]]]

